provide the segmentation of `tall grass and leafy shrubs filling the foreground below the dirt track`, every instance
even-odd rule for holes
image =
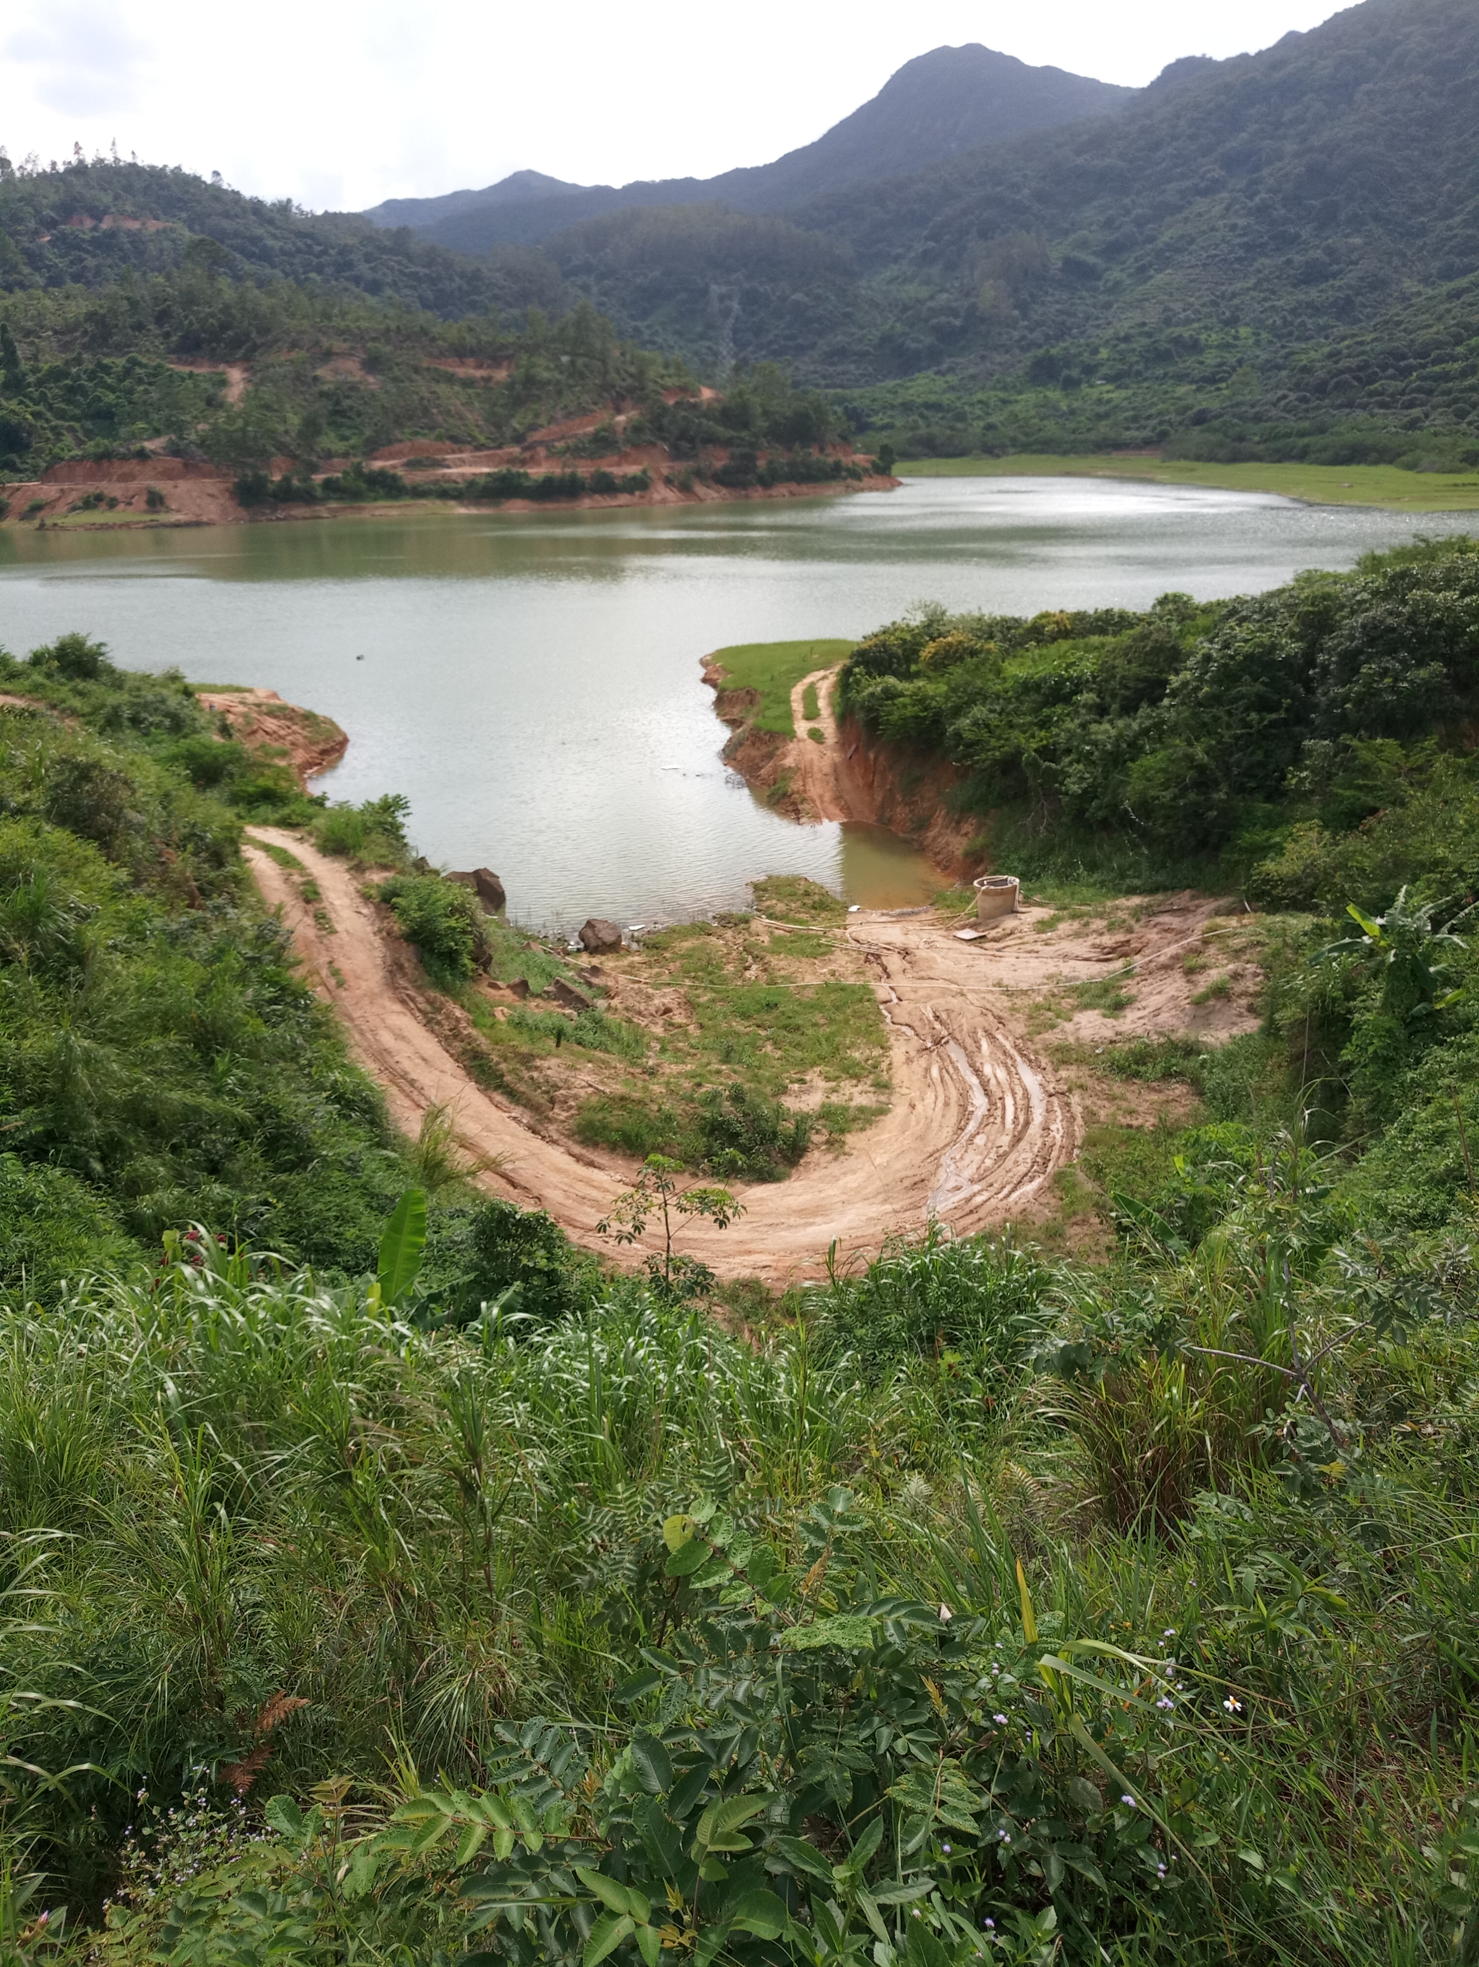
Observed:
[[[1473,1253],[1267,1145],[1198,1257],[934,1237],[745,1340],[507,1206],[401,1314],[208,1237],[0,1304],[43,1902],[179,1967],[1442,1957]]]

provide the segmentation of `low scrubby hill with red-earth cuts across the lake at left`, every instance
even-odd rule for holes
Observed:
[[[649,490],[651,452],[623,452],[661,445],[684,488],[743,492],[858,480],[832,454],[846,437],[838,407],[773,364],[702,397],[680,360],[623,342],[584,299],[555,319],[441,321],[254,277],[205,236],[169,271],[0,295],[0,474],[18,480],[163,452],[226,468],[242,506],[578,498]],[[435,480],[413,460],[413,484],[366,468],[407,441],[503,454]]]

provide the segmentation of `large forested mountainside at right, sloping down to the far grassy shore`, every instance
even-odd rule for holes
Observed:
[[[1479,10],[1365,0],[1261,55],[1176,63],[1117,116],[812,199],[763,232],[620,212],[547,252],[625,332],[710,368],[730,348],[789,360],[875,429],[928,425],[899,403],[915,384],[877,387],[922,378],[962,450],[1003,421],[1005,401],[981,403],[968,431],[983,389],[1011,397],[1007,448],[1190,443],[1208,423],[1204,447],[1298,447],[1375,417],[1385,452],[1436,429],[1463,454],[1477,153]]]

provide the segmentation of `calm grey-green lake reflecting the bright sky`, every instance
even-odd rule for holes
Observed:
[[[132,669],[250,683],[336,718],[332,799],[405,793],[411,838],[494,867],[531,924],[741,907],[763,873],[852,901],[930,889],[879,828],[793,826],[720,763],[698,681],[728,643],[861,635],[917,600],[1035,614],[1213,598],[1351,566],[1473,513],[1086,478],[564,515],[0,533],[0,643],[81,627]]]

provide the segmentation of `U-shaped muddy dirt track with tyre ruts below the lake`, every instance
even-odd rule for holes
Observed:
[[[818,763],[832,751],[800,744]],[[431,1031],[425,999],[350,869],[297,834],[254,832],[293,854],[319,885],[321,899],[307,905],[248,838],[258,887],[281,905],[311,982],[344,1019],[395,1123],[415,1133],[429,1107],[450,1107],[462,1143],[500,1157],[498,1170],[482,1176],[490,1194],[549,1210],[576,1243],[610,1251],[596,1223],[631,1164],[547,1137],[519,1107],[484,1092]],[[873,1251],[930,1218],[962,1233],[999,1225],[1078,1151],[1074,1102],[1013,1037],[1003,997],[968,944],[924,917],[873,913],[852,915],[848,936],[865,952],[889,1023],[893,1105],[844,1153],[812,1151],[791,1180],[741,1190],[745,1214],[730,1229],[684,1225],[682,1247],[724,1277],[773,1284],[814,1277],[834,1239],[844,1255]]]

